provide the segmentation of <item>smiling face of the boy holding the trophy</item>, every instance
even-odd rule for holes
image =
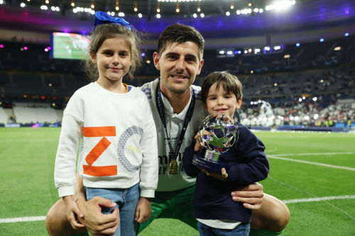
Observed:
[[[214,83],[209,88],[204,108],[209,114],[222,113],[233,118],[234,111],[241,107],[241,99],[236,101],[236,95],[227,93],[222,84],[216,89]]]

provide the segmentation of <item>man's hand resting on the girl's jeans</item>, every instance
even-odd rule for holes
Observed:
[[[119,226],[119,210],[117,208],[108,215],[101,212],[101,206],[108,208],[116,206],[116,203],[106,198],[94,197],[89,201],[78,198],[77,206],[84,213],[84,217],[78,217],[78,220],[87,227],[92,235],[113,235]]]

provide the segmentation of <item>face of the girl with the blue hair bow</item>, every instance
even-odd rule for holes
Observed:
[[[98,82],[109,80],[111,82],[122,81],[131,66],[131,50],[129,43],[123,35],[104,40],[96,55],[92,55],[92,62],[99,69]]]

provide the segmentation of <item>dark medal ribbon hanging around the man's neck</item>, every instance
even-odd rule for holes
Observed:
[[[186,113],[186,116],[185,116],[185,120],[184,120],[184,125],[182,126],[182,130],[181,130],[181,133],[179,135],[178,145],[176,145],[176,149],[175,149],[175,152],[174,152],[173,151],[173,146],[171,145],[171,142],[170,142],[170,137],[168,135],[168,130],[166,129],[164,104],[163,104],[163,99],[161,98],[160,79],[159,79],[157,96],[156,96],[156,103],[157,103],[159,116],[160,116],[161,121],[163,122],[164,129],[165,129],[165,134],[166,134],[166,137],[168,139],[168,145],[169,145],[169,150],[170,150],[169,154],[170,154],[170,157],[171,157],[170,174],[178,174],[178,173],[172,173],[171,163],[176,162],[176,159],[178,158],[178,154],[179,154],[179,151],[180,151],[182,140],[184,139],[184,135],[185,135],[185,132],[186,132],[187,125],[188,125],[188,123],[190,122],[190,120],[192,118],[192,113],[194,112],[194,108],[195,108],[195,93],[194,93],[193,89],[191,89],[191,91],[192,91],[192,100],[191,100],[190,106],[189,106],[189,108],[187,110],[187,113]]]

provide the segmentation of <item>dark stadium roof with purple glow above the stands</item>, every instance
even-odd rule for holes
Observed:
[[[271,0],[119,0],[119,11],[115,10],[116,0],[48,0],[49,4],[45,4],[45,0],[1,1],[5,4],[0,5],[0,28],[39,33],[89,33],[94,22],[94,16],[90,13],[91,4],[94,4],[95,11],[114,12],[114,16],[124,13],[127,21],[138,30],[147,32],[151,39],[158,38],[166,26],[175,22],[194,26],[204,38],[255,37],[307,30],[337,33],[346,30],[350,34],[355,33],[353,0],[283,1],[290,4],[288,7],[273,5],[275,1]],[[75,6],[70,6],[72,2]],[[26,6],[21,7],[21,3]],[[41,10],[40,6],[43,5],[48,6],[48,9]],[[52,6],[58,6],[59,11],[52,11]],[[135,6],[137,11],[134,11]],[[179,13],[176,12],[177,6]],[[273,9],[270,9],[271,6],[274,6]],[[77,9],[77,13],[74,13],[77,7],[82,7],[83,11]],[[197,12],[198,7],[200,12]],[[157,8],[160,9],[160,18],[157,18]],[[262,13],[260,9],[263,9]],[[201,13],[204,13],[204,17]]]

